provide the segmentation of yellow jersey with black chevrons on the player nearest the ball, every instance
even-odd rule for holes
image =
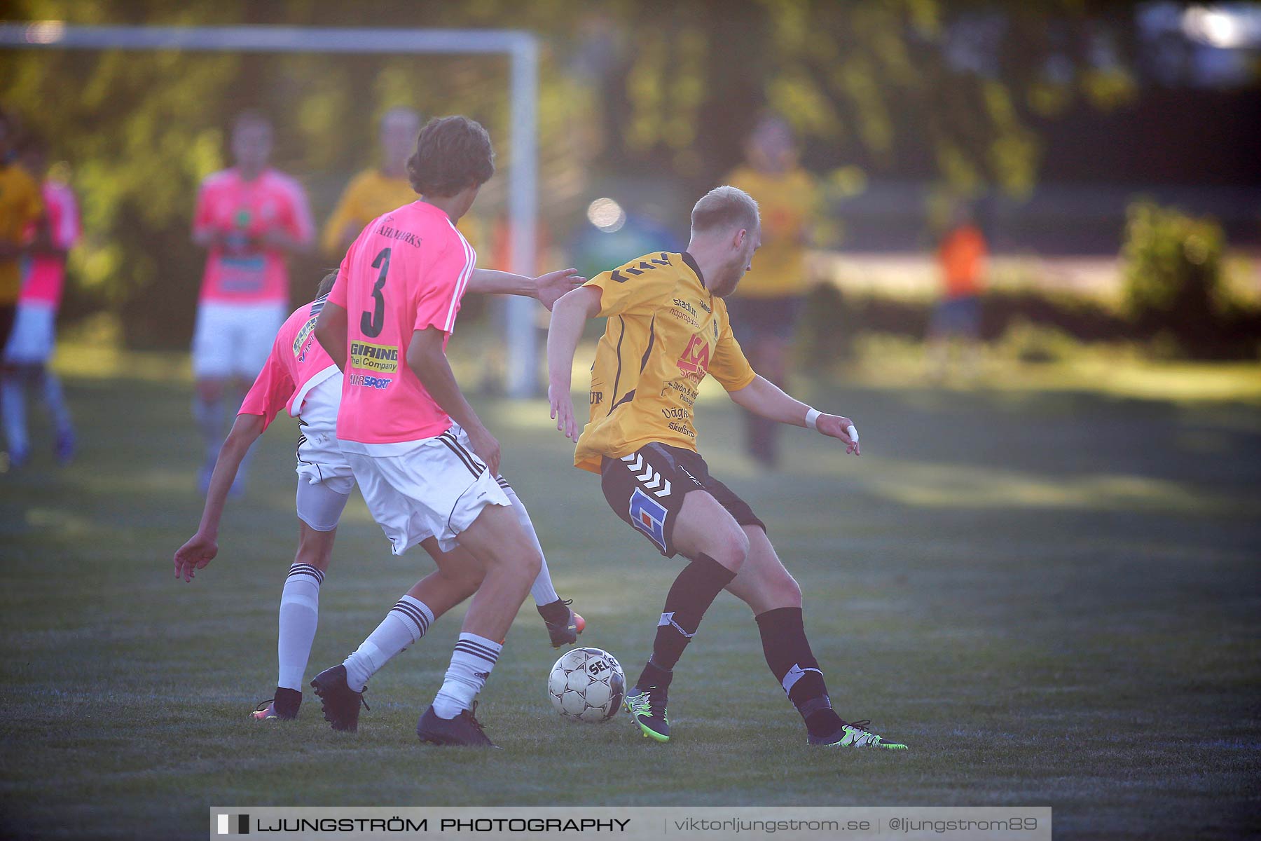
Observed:
[[[660,441],[696,451],[692,411],[706,373],[728,391],[757,376],[731,335],[726,303],[690,253],[653,252],[586,281],[600,290],[604,335],[591,366],[590,421],[574,467],[600,472]]]

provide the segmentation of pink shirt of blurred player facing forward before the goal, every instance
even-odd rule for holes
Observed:
[[[219,231],[226,247],[206,257],[202,300],[218,304],[271,304],[289,299],[289,271],[279,248],[257,245],[270,232],[284,232],[299,242],[315,233],[301,184],[274,169],[252,182],[236,169],[224,169],[202,182],[193,216],[193,233]]]

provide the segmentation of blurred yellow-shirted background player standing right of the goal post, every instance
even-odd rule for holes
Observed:
[[[745,144],[745,158],[726,180],[758,202],[763,238],[757,267],[731,298],[731,319],[753,366],[787,388],[789,345],[810,285],[806,247],[818,190],[813,177],[797,165],[792,129],[779,117],[758,122]],[[745,412],[745,420],[749,455],[763,467],[776,467],[777,424],[753,412]]]

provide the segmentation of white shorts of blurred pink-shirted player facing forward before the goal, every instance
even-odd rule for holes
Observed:
[[[271,304],[202,303],[193,330],[193,376],[198,380],[253,380],[271,353],[276,330],[289,315]]]

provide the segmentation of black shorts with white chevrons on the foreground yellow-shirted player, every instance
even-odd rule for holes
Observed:
[[[699,454],[668,444],[647,444],[620,459],[604,459],[600,487],[609,507],[636,531],[652,541],[666,557],[673,557],[675,518],[691,490],[706,490],[741,526],[767,530],[725,484],[709,474]]]

